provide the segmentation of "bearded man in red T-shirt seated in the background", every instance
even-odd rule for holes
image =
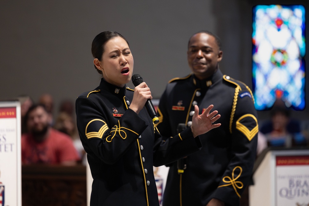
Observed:
[[[25,116],[28,133],[21,137],[23,164],[75,165],[80,160],[72,139],[49,124],[45,107],[35,104]]]

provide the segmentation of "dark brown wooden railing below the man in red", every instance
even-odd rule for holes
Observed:
[[[86,206],[83,165],[23,165],[21,179],[23,206]]]

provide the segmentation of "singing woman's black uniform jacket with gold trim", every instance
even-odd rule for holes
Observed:
[[[190,128],[162,141],[145,108],[139,114],[128,108],[132,99],[133,90],[102,78],[76,100],[78,133],[93,177],[90,205],[158,206],[153,165],[201,148]]]

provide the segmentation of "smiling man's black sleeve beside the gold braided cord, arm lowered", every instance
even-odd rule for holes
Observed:
[[[258,135],[257,114],[251,95],[240,97],[236,88],[230,120],[232,158],[212,197],[234,205],[252,174]]]

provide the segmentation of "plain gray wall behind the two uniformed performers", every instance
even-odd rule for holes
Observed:
[[[80,93],[94,89],[100,75],[93,67],[91,42],[106,30],[117,31],[129,41],[133,73],[141,74],[154,98],[160,97],[168,80],[190,72],[188,38],[205,29],[222,39],[223,73],[252,87],[251,12],[260,2],[1,1],[0,99],[25,94],[36,101],[50,93],[57,111],[61,100],[74,101]],[[131,82],[128,86],[133,88]],[[295,113],[301,118],[307,114],[307,110]],[[268,113],[259,116],[267,118]]]

